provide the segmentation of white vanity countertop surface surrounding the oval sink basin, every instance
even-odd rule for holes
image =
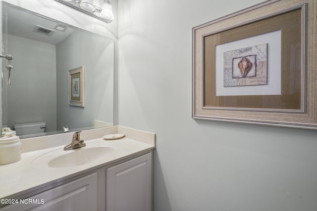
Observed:
[[[51,168],[46,165],[34,165],[33,161],[41,155],[44,155],[53,150],[63,151],[63,147],[65,145],[59,145],[51,148],[24,152],[22,153],[22,159],[20,161],[0,166],[0,198],[7,198],[21,191],[50,183],[54,180],[72,174],[75,175],[76,173],[80,173],[87,169],[93,169],[98,166],[106,166],[115,161],[155,148],[154,133],[147,134],[147,132],[145,131],[139,131],[119,126],[115,129],[116,130],[113,130],[112,128],[108,130],[108,132],[105,132],[105,130],[103,130],[103,134],[110,134],[113,131],[117,131],[118,133],[125,133],[126,136],[115,140],[104,140],[102,137],[89,139],[88,141],[85,140],[87,146],[89,146],[89,144],[91,143],[103,142],[105,143],[105,145],[108,144],[109,146],[114,146],[114,148],[116,149],[114,154],[88,164],[67,168]],[[103,131],[97,131],[97,133],[101,133]],[[96,134],[96,129],[94,129],[93,132],[94,134]],[[88,133],[89,131],[86,133],[86,137],[89,136]],[[141,141],[133,140],[129,138],[129,136],[133,137],[134,139],[140,137]],[[144,141],[143,139],[148,139],[147,137],[150,137],[150,139],[153,140]],[[29,140],[29,142],[30,141],[31,140]]]

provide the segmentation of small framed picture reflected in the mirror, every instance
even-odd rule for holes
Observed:
[[[85,68],[81,66],[68,72],[69,105],[85,107]]]

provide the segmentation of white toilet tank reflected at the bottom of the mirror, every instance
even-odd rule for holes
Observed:
[[[18,136],[43,133],[46,127],[46,123],[25,123],[25,124],[15,124],[13,129],[16,131]]]

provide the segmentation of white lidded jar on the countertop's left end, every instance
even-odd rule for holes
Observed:
[[[2,128],[0,138],[0,165],[11,164],[21,160],[21,142],[14,130]]]

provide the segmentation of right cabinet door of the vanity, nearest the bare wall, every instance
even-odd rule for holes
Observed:
[[[151,211],[152,153],[106,169],[106,211]]]

